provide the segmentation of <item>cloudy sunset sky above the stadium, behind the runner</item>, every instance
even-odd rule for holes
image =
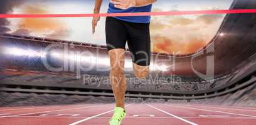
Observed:
[[[229,9],[233,0],[159,0],[153,11],[193,11]],[[104,0],[101,12],[106,12]],[[92,13],[94,0],[1,0],[0,13],[9,14],[82,14]],[[153,16],[152,52],[189,54],[205,46],[224,18],[218,15]],[[0,19],[0,32],[51,37],[105,45],[105,17],[92,35],[90,17],[47,19]]]

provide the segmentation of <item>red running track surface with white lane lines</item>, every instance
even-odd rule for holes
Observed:
[[[0,125],[105,125],[114,104],[0,108]],[[256,108],[181,104],[131,104],[122,125],[256,124]]]

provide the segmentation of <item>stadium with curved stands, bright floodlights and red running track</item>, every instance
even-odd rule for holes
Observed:
[[[256,8],[245,1],[230,10]],[[255,124],[255,39],[256,13],[227,14],[195,53],[152,53],[145,79],[127,49],[122,124]],[[0,124],[107,124],[115,98],[106,46],[3,32],[0,51]]]

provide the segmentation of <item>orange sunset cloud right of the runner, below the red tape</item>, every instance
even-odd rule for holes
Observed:
[[[153,53],[195,53],[215,36],[223,15],[152,17]]]

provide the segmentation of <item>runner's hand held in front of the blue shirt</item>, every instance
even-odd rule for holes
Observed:
[[[110,0],[115,8],[128,9],[136,5],[136,0]]]

